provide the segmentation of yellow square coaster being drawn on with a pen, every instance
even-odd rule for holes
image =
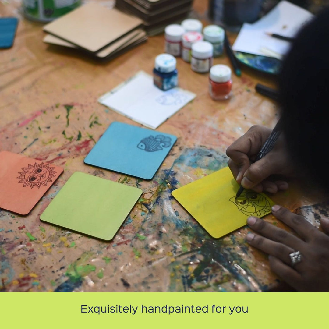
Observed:
[[[244,190],[236,200],[239,184],[229,167],[172,191],[173,197],[214,238],[246,225],[250,216],[271,213],[274,202],[263,193]]]

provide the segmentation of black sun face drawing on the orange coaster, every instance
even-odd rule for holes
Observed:
[[[23,183],[23,187],[30,186],[31,189],[34,187],[40,188],[41,185],[47,186],[48,183],[53,183],[52,178],[56,177],[55,167],[50,167],[49,164],[35,163],[34,165],[28,164],[27,167],[23,167],[18,183]]]

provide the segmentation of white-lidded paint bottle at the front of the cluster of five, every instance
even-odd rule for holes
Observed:
[[[209,41],[192,44],[191,69],[198,73],[209,72],[213,65],[214,47]]]

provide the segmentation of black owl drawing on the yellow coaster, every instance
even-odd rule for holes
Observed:
[[[247,216],[264,216],[271,211],[271,205],[266,197],[254,191],[243,191],[238,198],[229,199]]]

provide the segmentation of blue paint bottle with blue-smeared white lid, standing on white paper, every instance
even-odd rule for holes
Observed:
[[[161,90],[168,90],[178,85],[176,58],[170,54],[160,54],[155,58],[153,82]]]

